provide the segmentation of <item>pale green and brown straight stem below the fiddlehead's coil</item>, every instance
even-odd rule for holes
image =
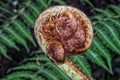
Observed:
[[[72,62],[65,60],[63,63],[57,62],[56,65],[65,72],[72,80],[89,80],[86,75],[79,71]]]

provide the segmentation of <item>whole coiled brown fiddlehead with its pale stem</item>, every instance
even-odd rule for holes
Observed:
[[[83,12],[70,6],[51,7],[40,14],[34,30],[42,50],[59,68],[74,80],[87,80],[78,77],[82,73],[65,59],[85,51],[92,42],[92,25]]]

